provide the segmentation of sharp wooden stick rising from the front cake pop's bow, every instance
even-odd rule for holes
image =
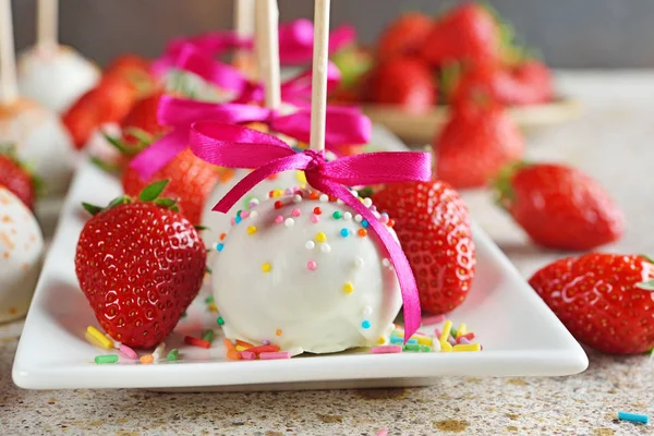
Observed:
[[[325,149],[325,117],[327,113],[327,62],[329,58],[329,0],[315,0],[314,56],[311,93],[311,137],[308,146]]]

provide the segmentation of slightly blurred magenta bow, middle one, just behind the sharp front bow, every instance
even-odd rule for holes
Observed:
[[[165,95],[159,100],[157,121],[160,125],[171,126],[173,130],[141,152],[130,162],[130,167],[136,170],[143,180],[150,180],[187,147],[191,124],[203,120],[228,124],[263,122],[272,131],[304,143],[308,143],[311,129],[308,109],[282,116],[275,110],[253,105],[220,105]],[[371,120],[354,108],[328,106],[326,122],[327,147],[367,144],[372,135]]]

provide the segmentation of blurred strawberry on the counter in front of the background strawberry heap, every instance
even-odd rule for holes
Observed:
[[[477,187],[522,158],[524,138],[504,109],[473,102],[452,108],[434,152],[438,178],[455,187]]]

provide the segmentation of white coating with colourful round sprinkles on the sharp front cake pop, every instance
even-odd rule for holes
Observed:
[[[386,250],[374,233],[358,234],[348,206],[298,199],[262,202],[225,238],[213,268],[225,335],[312,353],[387,341],[402,300]]]

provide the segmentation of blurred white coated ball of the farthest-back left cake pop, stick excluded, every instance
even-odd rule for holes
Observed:
[[[93,62],[65,46],[32,48],[20,56],[17,70],[21,95],[58,113],[95,87],[101,74]]]

